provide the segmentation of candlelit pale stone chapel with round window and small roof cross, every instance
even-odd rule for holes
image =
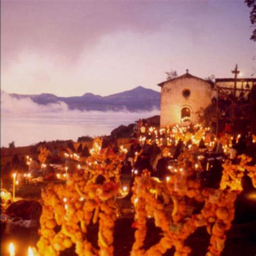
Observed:
[[[186,73],[159,83],[161,87],[160,126],[177,123],[197,123],[199,113],[212,104],[212,84]]]

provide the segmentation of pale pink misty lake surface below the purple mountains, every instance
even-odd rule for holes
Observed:
[[[43,140],[72,139],[80,136],[109,135],[119,125],[159,114],[149,112],[70,111],[64,103],[38,105],[30,99],[1,95],[1,146],[14,141],[27,146]]]

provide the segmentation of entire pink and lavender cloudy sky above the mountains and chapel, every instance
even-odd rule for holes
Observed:
[[[9,93],[159,90],[165,71],[255,72],[242,0],[2,1],[1,87]],[[255,77],[255,75],[254,75]]]

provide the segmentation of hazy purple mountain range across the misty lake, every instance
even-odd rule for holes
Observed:
[[[126,109],[135,112],[159,109],[160,106],[160,93],[142,86],[109,96],[99,96],[93,93],[74,97],[58,97],[50,93],[41,95],[11,93],[10,96],[17,99],[30,98],[33,102],[41,105],[64,102],[71,110],[119,111]]]

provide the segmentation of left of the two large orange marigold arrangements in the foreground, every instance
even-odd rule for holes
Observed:
[[[113,255],[113,230],[117,218],[113,198],[118,188],[112,182],[88,184],[79,176],[73,176],[69,184],[49,185],[42,192],[39,255],[59,255],[73,244],[79,256]],[[93,224],[99,221],[99,250],[86,239],[91,221]]]

